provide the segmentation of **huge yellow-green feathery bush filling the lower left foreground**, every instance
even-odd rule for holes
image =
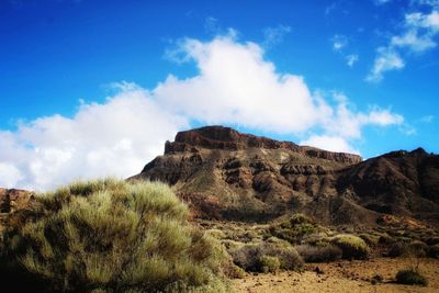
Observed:
[[[189,225],[188,207],[165,184],[78,182],[37,202],[2,256],[20,282],[67,292],[227,291],[216,277],[221,248]]]

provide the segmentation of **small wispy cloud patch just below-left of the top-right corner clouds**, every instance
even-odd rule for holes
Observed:
[[[383,72],[389,70],[402,69],[405,66],[404,60],[397,52],[392,48],[379,47],[378,55],[374,60],[371,72],[367,76],[365,80],[378,82],[383,79]]]

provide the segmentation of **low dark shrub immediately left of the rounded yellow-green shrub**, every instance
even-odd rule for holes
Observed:
[[[301,245],[296,247],[299,255],[305,262],[329,262],[341,258],[342,251],[334,245],[309,246]]]

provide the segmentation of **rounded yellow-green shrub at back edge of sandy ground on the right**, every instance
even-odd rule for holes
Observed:
[[[369,257],[368,245],[358,236],[340,234],[331,239],[331,244],[341,249],[344,259],[367,259]]]

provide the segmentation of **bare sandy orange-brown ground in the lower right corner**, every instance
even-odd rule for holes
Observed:
[[[439,292],[439,260],[420,259],[419,270],[428,279],[427,286],[394,283],[398,270],[416,266],[409,258],[378,258],[368,261],[336,261],[307,263],[305,271],[248,274],[233,280],[238,293],[262,292]],[[316,268],[322,273],[316,273]],[[381,283],[372,284],[374,275],[382,275]]]

